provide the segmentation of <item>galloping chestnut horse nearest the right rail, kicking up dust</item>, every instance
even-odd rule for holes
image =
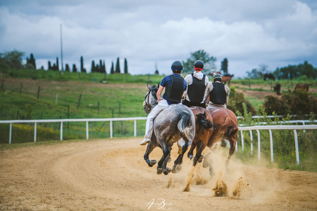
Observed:
[[[229,173],[229,161],[236,149],[236,142],[238,139],[238,122],[236,115],[229,109],[215,109],[210,112],[213,123],[215,125],[214,131],[208,140],[207,146],[210,152],[205,156],[203,167],[209,166],[209,174],[212,175],[212,163],[209,161],[209,156],[212,153],[212,146],[223,139],[227,139],[230,143],[229,157],[225,163],[226,173]]]

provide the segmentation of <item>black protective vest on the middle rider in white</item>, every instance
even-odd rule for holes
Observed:
[[[188,85],[188,98],[193,103],[201,103],[204,99],[206,85],[205,85],[205,77],[202,80],[197,79],[194,77],[194,74],[191,74],[191,77],[193,78],[193,82],[191,85]]]

